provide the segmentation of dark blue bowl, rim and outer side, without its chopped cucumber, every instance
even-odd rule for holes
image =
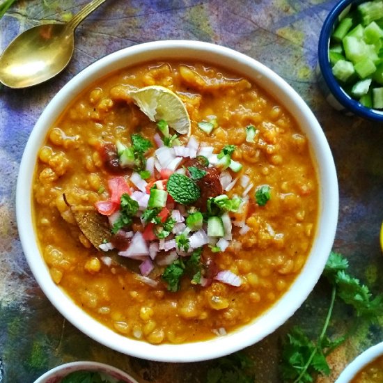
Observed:
[[[343,88],[332,74],[329,61],[330,37],[339,19],[343,18],[353,7],[365,2],[366,0],[341,0],[325,19],[318,45],[318,84],[325,94],[327,102],[336,110],[343,111],[349,116],[357,115],[369,120],[383,122],[383,111],[366,108],[343,91]]]

